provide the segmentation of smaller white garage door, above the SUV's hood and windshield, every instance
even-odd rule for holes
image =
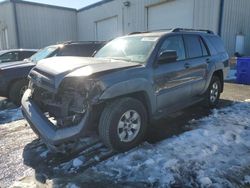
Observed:
[[[118,36],[117,17],[108,18],[96,22],[96,40],[105,41]]]

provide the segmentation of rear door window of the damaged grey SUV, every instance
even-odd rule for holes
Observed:
[[[189,58],[197,58],[203,56],[201,39],[197,35],[184,35],[184,41],[187,48]]]

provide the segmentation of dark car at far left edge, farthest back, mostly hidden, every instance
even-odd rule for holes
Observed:
[[[29,58],[38,50],[33,49],[12,49],[12,50],[2,50],[0,51],[0,64],[9,63],[16,61],[23,61]]]

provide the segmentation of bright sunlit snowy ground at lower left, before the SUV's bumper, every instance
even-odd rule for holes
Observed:
[[[1,112],[2,113],[2,112]],[[0,187],[9,187],[32,170],[23,165],[23,148],[36,138],[24,120],[0,125]]]

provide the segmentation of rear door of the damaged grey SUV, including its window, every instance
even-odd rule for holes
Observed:
[[[199,35],[185,34],[189,77],[192,78],[192,96],[201,94],[206,84],[210,55],[207,46]]]

